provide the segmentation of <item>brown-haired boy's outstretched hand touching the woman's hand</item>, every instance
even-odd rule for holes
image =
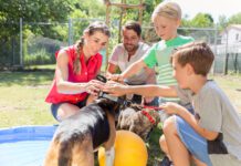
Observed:
[[[125,95],[125,90],[127,85],[123,85],[120,83],[108,81],[103,89],[104,92],[113,95],[113,96],[122,96]]]

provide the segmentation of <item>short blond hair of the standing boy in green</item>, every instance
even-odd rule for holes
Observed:
[[[151,14],[151,20],[154,21],[154,19],[157,15],[169,18],[169,19],[175,19],[175,20],[180,20],[181,19],[180,6],[171,1],[161,2],[155,8]]]

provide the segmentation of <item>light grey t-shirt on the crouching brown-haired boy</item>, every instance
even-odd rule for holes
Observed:
[[[241,118],[216,82],[208,81],[197,94],[179,87],[177,93],[181,101],[192,103],[201,127],[222,133],[229,154],[241,165]]]

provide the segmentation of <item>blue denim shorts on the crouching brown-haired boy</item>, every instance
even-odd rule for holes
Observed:
[[[208,155],[207,139],[200,136],[184,118],[176,116],[176,127],[181,142],[197,159],[212,166]]]

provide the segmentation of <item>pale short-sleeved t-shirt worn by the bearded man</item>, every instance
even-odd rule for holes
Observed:
[[[149,49],[149,45],[146,43],[139,42],[139,46],[134,55],[130,56],[128,61],[128,53],[125,50],[123,43],[117,44],[112,52],[112,55],[108,60],[109,63],[115,64],[124,72],[130,64],[139,60]],[[129,84],[145,84],[148,75],[145,70],[140,70],[138,73],[128,77],[126,81]]]

